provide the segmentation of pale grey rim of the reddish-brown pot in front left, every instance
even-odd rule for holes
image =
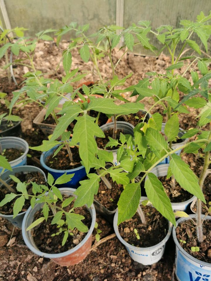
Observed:
[[[74,188],[63,187],[63,188],[60,188],[59,190],[60,190],[60,191],[64,191],[64,192],[65,192],[65,191],[70,191],[70,192],[72,193],[71,195],[75,196],[73,193],[74,193],[74,191],[76,191],[76,189],[74,189]],[[76,197],[76,196],[75,196],[75,197]],[[39,204],[39,203],[38,203],[38,204]],[[36,205],[37,205],[37,204],[36,204]],[[39,204],[39,205],[41,205],[41,204]],[[91,222],[91,226],[90,226],[90,228],[89,228],[89,231],[87,232],[87,234],[86,234],[86,236],[84,237],[84,239],[83,239],[78,245],[76,245],[74,248],[72,248],[72,249],[70,249],[70,250],[68,250],[68,251],[66,251],[66,252],[57,253],[57,254],[49,254],[49,253],[41,252],[39,249],[36,249],[36,248],[31,244],[31,242],[28,240],[27,235],[26,235],[26,229],[25,229],[26,227],[25,227],[25,224],[26,224],[26,219],[27,219],[29,213],[30,213],[31,210],[32,210],[32,207],[30,206],[30,207],[28,208],[28,210],[26,211],[26,214],[25,214],[25,216],[24,216],[24,218],[23,218],[23,223],[22,223],[22,234],[23,234],[23,239],[24,239],[24,242],[25,242],[26,246],[27,246],[33,253],[35,253],[36,255],[41,256],[41,257],[44,257],[44,258],[50,258],[50,259],[61,258],[61,257],[64,257],[64,256],[68,256],[68,255],[74,253],[75,251],[77,251],[81,246],[83,246],[83,245],[86,243],[86,241],[87,241],[87,240],[89,239],[89,237],[92,235],[92,232],[93,232],[93,230],[94,230],[95,221],[96,221],[96,212],[95,212],[95,208],[94,208],[93,203],[92,203],[92,205],[91,205],[90,208],[88,208],[87,205],[85,205],[85,206],[86,206],[86,208],[89,210],[89,213],[90,213],[90,215],[91,215],[91,217],[92,217],[92,222]],[[91,211],[90,211],[90,210],[92,211],[92,214],[91,214]]]

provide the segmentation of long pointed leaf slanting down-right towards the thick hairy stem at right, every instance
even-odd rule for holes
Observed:
[[[183,162],[181,158],[176,155],[171,155],[171,160],[169,162],[169,166],[173,175],[175,176],[176,181],[180,184],[180,186],[195,195],[198,199],[206,203],[203,192],[200,189],[198,184],[198,178],[190,169],[189,165]]]

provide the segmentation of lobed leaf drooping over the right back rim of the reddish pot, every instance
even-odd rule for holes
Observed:
[[[97,174],[88,174],[87,176],[89,179],[80,181],[80,186],[74,192],[78,196],[74,202],[74,208],[85,204],[90,208],[94,201],[94,195],[98,193],[100,177]]]

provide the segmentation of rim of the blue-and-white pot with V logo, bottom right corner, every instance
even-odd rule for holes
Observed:
[[[196,214],[191,214],[189,215],[189,217],[191,218],[195,218],[197,215]],[[201,215],[202,218],[205,217],[205,215]],[[211,220],[211,216],[206,216],[208,220]],[[180,222],[183,222],[185,220],[189,220],[188,217],[181,217],[179,218],[177,221],[176,221],[176,227],[178,226],[178,224]],[[188,254],[179,244],[177,238],[176,238],[176,228],[175,226],[173,226],[173,230],[172,230],[172,236],[173,236],[173,240],[174,240],[174,243],[176,245],[176,247],[178,247],[179,251],[181,251],[183,253],[184,256],[186,256],[187,258],[191,259],[192,261],[194,261],[195,263],[200,263],[201,265],[204,265],[204,266],[208,266],[208,267],[211,267],[211,263],[206,263],[205,261],[200,261],[198,260],[197,258],[194,258],[193,256],[191,256],[190,254]]]

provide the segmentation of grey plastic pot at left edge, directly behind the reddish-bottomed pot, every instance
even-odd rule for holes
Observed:
[[[6,181],[7,184],[9,184],[9,182],[11,181],[11,178],[9,175],[15,175],[16,173],[21,173],[23,172],[24,174],[27,174],[28,172],[39,172],[43,175],[43,177],[45,178],[45,181],[47,182],[45,173],[38,167],[35,166],[19,166],[14,168],[12,171],[6,171],[1,175],[1,179],[3,179],[4,181]],[[0,183],[0,187],[3,184]],[[21,228],[22,227],[22,222],[23,222],[23,217],[25,215],[25,212],[19,213],[16,217],[13,218],[13,215],[4,215],[0,213],[0,217],[3,217],[4,219],[9,220],[14,226]]]

